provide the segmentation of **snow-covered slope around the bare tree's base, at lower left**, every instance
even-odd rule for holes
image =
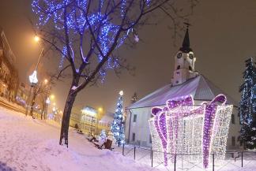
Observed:
[[[72,129],[69,148],[59,146],[59,132],[58,125],[0,108],[0,170],[151,170],[117,151],[97,149]]]

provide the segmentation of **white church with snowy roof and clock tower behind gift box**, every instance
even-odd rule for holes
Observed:
[[[201,102],[210,102],[216,95],[222,94],[227,97],[228,104],[234,106],[228,131],[227,149],[243,148],[239,136],[238,102],[235,102],[232,97],[216,87],[205,76],[195,71],[196,57],[190,48],[189,28],[186,28],[183,45],[174,58],[175,71],[171,83],[160,87],[126,108],[126,143],[143,147],[152,146],[148,123],[152,117],[152,107],[165,106],[168,99],[186,95],[192,95],[194,104],[199,105]]]

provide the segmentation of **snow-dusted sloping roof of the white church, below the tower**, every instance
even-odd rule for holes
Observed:
[[[127,107],[127,109],[162,106],[165,105],[168,99],[173,99],[185,95],[192,95],[194,100],[198,101],[210,101],[216,95],[220,94],[226,95],[228,104],[232,104],[234,106],[238,105],[238,102],[224,93],[224,91],[220,90],[219,87],[216,87],[211,81],[205,78],[205,76],[198,75],[190,80],[187,80],[183,84],[176,86],[171,86],[171,84],[168,84],[164,87],[161,87],[160,89],[152,92],[151,94],[145,96],[143,99]]]

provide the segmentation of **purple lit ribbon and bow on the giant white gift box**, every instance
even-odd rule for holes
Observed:
[[[166,102],[164,108],[153,107],[152,115],[154,115],[154,126],[156,132],[160,137],[161,145],[164,151],[164,165],[168,165],[168,152],[175,154],[177,147],[175,144],[176,139],[178,139],[178,128],[179,128],[179,118],[189,117],[193,114],[202,113],[205,110],[205,119],[203,125],[203,136],[202,136],[202,156],[203,165],[205,168],[209,165],[209,153],[211,139],[213,137],[213,124],[216,117],[216,109],[218,105],[224,105],[226,102],[226,97],[224,95],[217,95],[211,102],[203,102],[201,107],[190,108],[190,111],[179,111],[171,112],[171,117],[173,121],[167,121],[167,113],[179,106],[193,106],[194,101],[191,95],[181,97],[179,99],[169,99]],[[171,149],[168,151],[168,147]]]

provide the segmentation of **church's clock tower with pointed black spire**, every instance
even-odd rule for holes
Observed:
[[[189,25],[186,24],[186,34],[183,39],[183,46],[179,49],[175,55],[175,71],[171,84],[173,86],[183,84],[186,80],[198,76],[198,72],[194,71],[194,63],[196,58],[194,57],[193,50],[190,48],[190,35]]]

